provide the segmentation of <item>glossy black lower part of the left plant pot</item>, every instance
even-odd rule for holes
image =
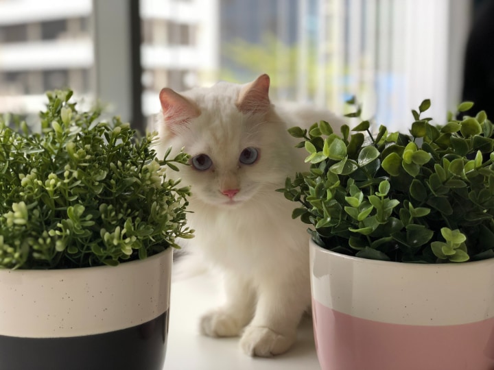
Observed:
[[[168,312],[156,319],[104,334],[71,338],[0,336],[2,370],[161,370]]]

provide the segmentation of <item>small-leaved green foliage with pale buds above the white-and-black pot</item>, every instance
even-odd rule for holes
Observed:
[[[139,138],[118,117],[78,112],[71,91],[47,93],[40,133],[0,119],[0,268],[116,265],[189,238],[189,187],[165,176],[155,134]]]

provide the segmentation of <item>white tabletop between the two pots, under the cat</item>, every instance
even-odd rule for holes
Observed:
[[[311,320],[304,318],[292,349],[273,358],[251,358],[239,338],[200,335],[202,313],[222,304],[217,278],[199,275],[172,282],[169,335],[164,370],[320,370]]]

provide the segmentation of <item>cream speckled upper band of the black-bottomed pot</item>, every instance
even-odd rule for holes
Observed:
[[[156,319],[169,308],[172,248],[117,267],[0,270],[0,335],[102,334]]]

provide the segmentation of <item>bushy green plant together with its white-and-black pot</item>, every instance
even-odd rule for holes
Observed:
[[[158,160],[154,134],[71,95],[47,94],[38,133],[0,122],[0,367],[162,369],[172,247],[191,236],[189,188],[163,167],[188,156]]]

